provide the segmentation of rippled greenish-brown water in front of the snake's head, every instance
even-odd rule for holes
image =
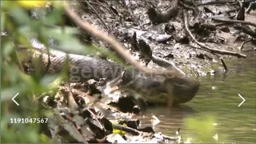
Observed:
[[[226,74],[199,78],[201,87],[191,102],[172,111],[152,108],[143,114],[143,121],[150,123],[151,114],[154,114],[161,121],[154,126],[155,131],[174,135],[175,130],[181,128],[185,141],[186,138],[198,138],[200,141],[202,135],[214,139],[214,134],[218,134],[218,140],[214,142],[256,142],[256,53],[246,54],[245,59],[225,61],[229,69]],[[238,105],[242,99],[238,94],[246,99],[240,107]],[[210,125],[200,125],[199,122],[196,126],[198,131],[187,126],[187,118],[198,118],[204,122],[209,115],[214,117]],[[212,135],[206,132],[210,127],[214,127],[214,133],[210,133]],[[208,141],[212,142],[204,142]]]

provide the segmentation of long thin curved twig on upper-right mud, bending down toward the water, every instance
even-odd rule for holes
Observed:
[[[210,50],[211,53],[216,53],[216,54],[226,54],[226,55],[232,55],[232,56],[236,56],[238,58],[246,58],[246,55],[244,54],[239,54],[239,53],[235,53],[235,52],[231,52],[231,51],[227,51],[227,50],[215,50],[212,49],[208,46],[205,46],[203,43],[198,42],[195,38],[194,35],[191,33],[190,29],[188,28],[188,22],[187,22],[187,12],[186,10],[183,10],[183,18],[184,18],[184,25],[185,25],[185,30],[186,33],[189,34],[190,38],[193,39],[194,42],[196,42],[198,44],[198,46],[201,46],[202,48],[204,48],[205,50]]]

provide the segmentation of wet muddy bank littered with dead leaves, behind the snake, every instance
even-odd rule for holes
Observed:
[[[240,26],[239,22],[228,25],[212,20],[236,20],[235,16],[240,10],[237,2],[216,2],[215,5],[203,3],[141,0],[74,2],[73,5],[84,20],[114,35],[135,58],[141,59],[144,65],[150,68],[166,66],[162,62],[154,61],[153,55],[166,60],[167,66],[177,66],[190,76],[205,76],[214,71],[212,63],[222,65],[220,58],[225,60],[239,56],[212,53],[198,46],[190,35],[186,34],[182,10],[188,11],[188,27],[194,38],[214,50],[240,53],[242,42],[254,35],[243,33],[241,26],[246,25]],[[245,13],[246,22],[255,22],[255,17],[255,11]],[[248,30],[254,29],[255,26],[248,27]],[[106,46],[94,38],[92,42]],[[146,43],[147,47],[142,48],[137,44],[139,42]],[[254,42],[248,42],[244,47],[244,50],[251,50],[254,48]]]

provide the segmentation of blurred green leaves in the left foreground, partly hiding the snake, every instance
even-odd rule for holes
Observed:
[[[42,10],[45,10],[42,8]],[[48,46],[48,38],[58,41],[58,47],[63,51],[88,54],[91,46],[84,46],[74,34],[78,30],[67,26],[54,26],[62,22],[63,7],[56,6],[54,12],[42,19],[30,18],[26,9],[18,2],[3,1],[1,9],[1,28],[8,36],[1,37],[1,140],[4,142],[45,142],[49,138],[40,133],[40,124],[10,123],[10,118],[44,118],[45,110],[38,104],[38,96],[57,90],[58,85],[66,78],[66,71],[54,76],[30,77],[22,72],[20,58],[15,44],[30,47],[29,38],[38,40]],[[11,101],[15,94],[17,106]]]

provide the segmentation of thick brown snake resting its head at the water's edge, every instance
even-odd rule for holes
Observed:
[[[69,82],[86,82],[105,78],[112,83],[121,78],[118,88],[135,91],[149,102],[176,106],[190,102],[198,93],[199,82],[186,75],[179,77],[165,74],[145,74],[138,68],[127,68],[118,62],[79,54],[67,54],[62,50],[41,45],[31,40],[33,49],[18,49],[22,67],[27,74],[38,70],[42,74],[58,74],[68,67]]]

